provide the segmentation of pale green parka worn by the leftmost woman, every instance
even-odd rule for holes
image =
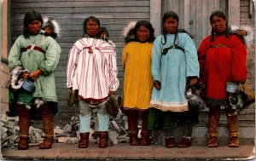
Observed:
[[[29,45],[40,47],[45,54],[35,49],[22,51],[22,48]],[[60,60],[60,55],[61,47],[52,37],[44,37],[42,34],[38,34],[25,38],[20,35],[9,52],[9,70],[12,71],[15,66],[22,66],[30,72],[41,69],[44,74],[34,82],[36,89],[32,93],[32,98],[57,102],[54,71]],[[18,95],[17,99],[18,102],[29,103],[24,95]]]

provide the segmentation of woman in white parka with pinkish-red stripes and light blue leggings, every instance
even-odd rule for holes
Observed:
[[[109,116],[105,105],[119,87],[116,52],[100,39],[99,29],[96,17],[85,19],[84,37],[73,44],[68,55],[67,88],[78,90],[79,97],[79,148],[88,147],[92,108],[97,108],[99,147],[108,147]]]

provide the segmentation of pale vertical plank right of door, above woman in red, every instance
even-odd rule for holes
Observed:
[[[240,0],[229,0],[228,8],[229,24],[240,26]]]

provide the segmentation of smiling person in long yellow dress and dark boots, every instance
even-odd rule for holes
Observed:
[[[151,76],[151,53],[154,28],[148,20],[140,20],[125,37],[123,49],[124,109],[128,118],[128,134],[131,146],[148,146],[148,106],[153,87]],[[138,114],[142,112],[142,138],[139,141]]]

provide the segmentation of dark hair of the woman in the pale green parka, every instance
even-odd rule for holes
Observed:
[[[43,24],[43,19],[40,13],[37,11],[29,11],[26,12],[24,20],[23,20],[23,26],[24,26],[24,37],[29,37],[29,32],[28,32],[28,26],[32,23],[33,20],[39,20]]]

